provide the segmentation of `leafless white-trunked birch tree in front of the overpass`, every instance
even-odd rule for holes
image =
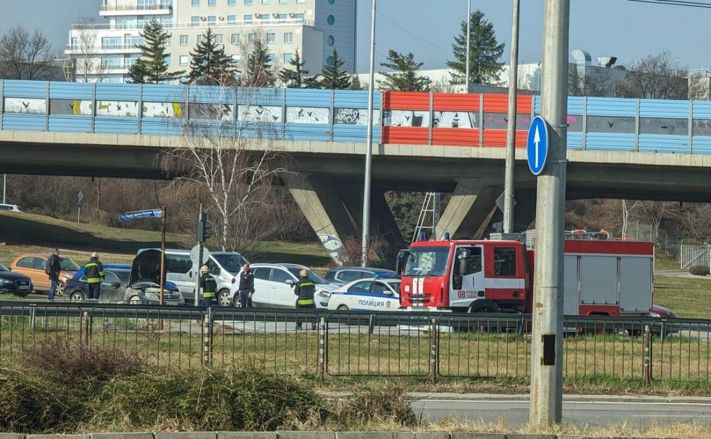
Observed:
[[[199,90],[191,92],[196,102],[183,120],[181,144],[163,154],[161,166],[176,175],[173,186],[188,188],[203,203],[220,249],[254,254],[279,227],[268,217],[272,185],[285,172],[272,125],[281,108],[252,104],[256,90],[242,89],[237,116],[237,107],[223,103],[233,88],[221,87],[220,95],[210,97]]]

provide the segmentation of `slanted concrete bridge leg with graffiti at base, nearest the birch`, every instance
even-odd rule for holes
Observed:
[[[358,232],[336,190],[336,182],[299,173],[284,175],[284,183],[328,255],[338,263],[343,251],[343,239]]]

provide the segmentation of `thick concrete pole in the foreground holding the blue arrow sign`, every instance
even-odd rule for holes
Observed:
[[[530,418],[533,426],[562,418],[563,245],[567,145],[570,0],[545,0],[541,116],[548,126],[546,168],[538,176],[536,259],[531,338]]]

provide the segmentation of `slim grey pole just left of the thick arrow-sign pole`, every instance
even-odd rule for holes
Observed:
[[[503,183],[503,232],[513,232],[513,178],[516,159],[516,88],[518,87],[518,5],[513,0],[511,18],[511,63],[508,67],[508,126],[506,129],[506,174]]]

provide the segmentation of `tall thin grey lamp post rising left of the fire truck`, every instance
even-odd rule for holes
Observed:
[[[360,266],[368,266],[368,242],[370,241],[370,180],[373,170],[373,88],[375,88],[375,3],[370,18],[370,81],[368,82],[368,134],[365,137],[365,184],[363,185],[363,254]]]

